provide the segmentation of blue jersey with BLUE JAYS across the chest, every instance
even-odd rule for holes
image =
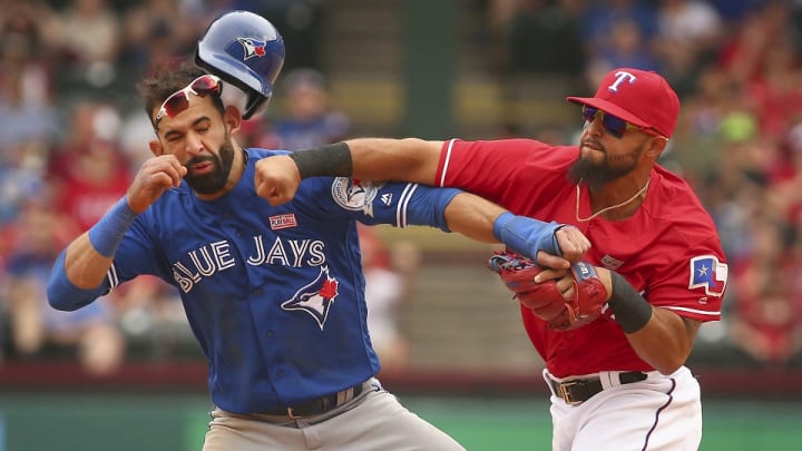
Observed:
[[[366,327],[356,222],[447,231],[459,190],[317,177],[273,207],[256,196],[247,149],[232,192],[199,200],[183,183],[126,233],[108,287],[153,274],[176,286],[208,357],[212,399],[260,412],[355,385],[379,371]]]

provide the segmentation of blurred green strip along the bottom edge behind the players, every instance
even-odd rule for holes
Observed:
[[[470,451],[549,450],[548,400],[521,396],[400,401]],[[0,451],[197,451],[203,394],[0,393]],[[702,451],[802,449],[802,402],[706,400]]]

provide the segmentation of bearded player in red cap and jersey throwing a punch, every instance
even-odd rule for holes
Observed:
[[[629,68],[612,70],[594,97],[568,100],[581,106],[578,146],[368,138],[346,141],[340,158],[351,160],[350,176],[459,187],[515,214],[578,227],[593,244],[584,258],[604,286],[602,314],[557,330],[521,303],[546,362],[552,449],[697,449],[700,385],[685,362],[700,325],[721,318],[727,265],[700,200],[657,164],[679,100],[659,75]],[[257,186],[272,203],[292,198],[300,174],[329,174],[320,161],[336,166],[325,150],[304,153],[260,161]],[[573,295],[566,271],[540,277],[558,277]]]

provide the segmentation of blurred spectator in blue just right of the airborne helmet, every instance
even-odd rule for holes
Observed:
[[[275,120],[274,131],[284,149],[306,149],[345,138],[350,119],[334,110],[323,75],[296,69],[280,84],[286,115]]]

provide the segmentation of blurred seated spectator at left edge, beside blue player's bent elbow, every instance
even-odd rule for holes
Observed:
[[[13,353],[19,359],[76,357],[94,374],[116,370],[125,342],[104,303],[86,311],[58,312],[47,303],[45,287],[58,249],[76,234],[69,218],[46,202],[30,202],[4,234],[12,234],[8,278],[1,291],[10,318]]]

